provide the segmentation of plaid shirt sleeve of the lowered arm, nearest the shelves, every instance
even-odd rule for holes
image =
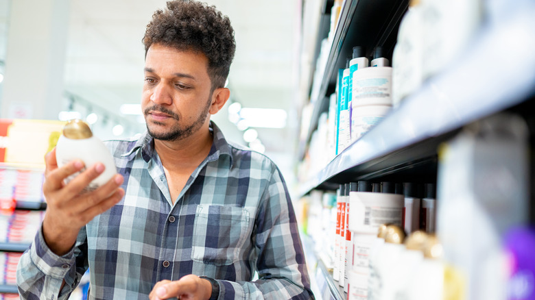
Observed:
[[[218,299],[314,299],[292,201],[276,167],[255,222],[259,279],[217,280]]]

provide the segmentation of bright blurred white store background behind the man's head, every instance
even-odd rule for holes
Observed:
[[[206,2],[230,18],[237,43],[230,101],[213,121],[227,139],[265,152],[292,182],[301,3]],[[141,39],[165,3],[0,0],[0,116],[82,118],[102,139],[143,132]]]

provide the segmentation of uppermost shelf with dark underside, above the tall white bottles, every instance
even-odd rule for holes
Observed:
[[[318,127],[318,118],[329,107],[329,95],[334,92],[336,70],[345,68],[346,58],[353,47],[366,47],[366,55],[372,56],[377,46],[383,47],[385,57],[390,58],[396,43],[399,23],[407,11],[408,1],[396,0],[346,0],[340,12],[340,21],[333,34],[329,59],[324,66],[324,75],[314,103],[311,122],[305,140],[300,141],[298,157],[305,155],[312,132]],[[321,42],[321,39],[318,39]]]

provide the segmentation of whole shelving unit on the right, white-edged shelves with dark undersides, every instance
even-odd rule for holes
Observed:
[[[324,66],[319,96],[310,99],[313,112],[306,137],[300,140],[299,160],[305,157],[320,114],[329,109],[336,71],[344,68],[352,47],[365,46],[369,57],[375,47],[382,46],[385,56],[391,58],[406,11],[407,1],[345,1]],[[440,144],[465,125],[504,110],[527,117],[534,129],[535,55],[530,50],[535,48],[534,36],[535,21],[516,19],[507,24],[484,24],[455,65],[429,78],[377,127],[320,172],[300,182],[298,194],[305,196],[314,189],[335,190],[339,184],[357,180],[409,178],[414,182],[436,182]],[[501,61],[490,67],[489,63],[496,58]],[[530,173],[534,175],[533,167]],[[533,185],[531,189],[533,192]],[[534,215],[532,210],[532,218]],[[309,243],[312,242],[305,242],[305,247]],[[346,299],[323,262],[316,259],[315,263],[317,281],[325,281],[322,286],[329,287],[331,299]]]

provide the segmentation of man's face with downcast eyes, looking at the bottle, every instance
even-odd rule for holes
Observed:
[[[158,140],[181,140],[209,121],[208,58],[194,51],[152,45],[145,58],[141,108],[147,130]]]

